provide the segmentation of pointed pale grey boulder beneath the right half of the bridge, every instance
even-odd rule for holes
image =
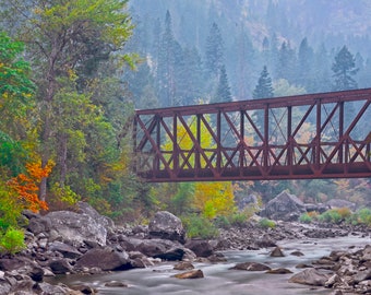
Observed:
[[[299,216],[307,212],[306,205],[296,196],[283,191],[276,198],[266,203],[261,211],[262,217],[280,221],[297,221]]]

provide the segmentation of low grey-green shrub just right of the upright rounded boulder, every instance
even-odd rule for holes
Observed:
[[[181,221],[189,238],[215,238],[219,234],[216,226],[202,215],[190,214],[182,216]]]

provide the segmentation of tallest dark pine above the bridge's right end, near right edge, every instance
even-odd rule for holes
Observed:
[[[345,45],[335,56],[332,70],[335,80],[334,91],[355,90],[358,87],[356,80],[352,79],[358,72],[356,60]]]

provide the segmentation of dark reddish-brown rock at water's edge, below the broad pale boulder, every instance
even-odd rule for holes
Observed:
[[[99,268],[103,271],[120,271],[132,269],[129,255],[125,251],[119,252],[110,247],[104,249],[91,249],[84,253],[75,264],[75,269]]]

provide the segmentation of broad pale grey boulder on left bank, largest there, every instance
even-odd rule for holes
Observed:
[[[84,243],[106,246],[107,229],[87,214],[71,211],[56,211],[45,215],[50,221],[50,240],[68,241],[74,246]]]

